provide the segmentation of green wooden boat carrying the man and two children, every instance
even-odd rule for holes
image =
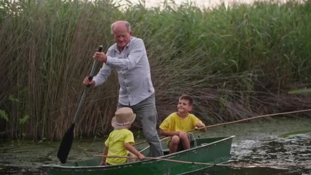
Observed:
[[[197,138],[196,147],[168,154],[166,141],[162,142],[164,148],[163,159],[171,159],[188,162],[201,162],[220,164],[229,161],[232,138],[213,137]],[[148,156],[149,149],[142,151],[142,154]],[[65,164],[43,165],[46,174],[50,175],[98,175],[98,174],[186,174],[202,170],[209,165],[184,164],[164,160],[144,160],[134,163],[124,163],[122,165],[98,166],[101,158],[94,158],[85,161],[77,161]]]

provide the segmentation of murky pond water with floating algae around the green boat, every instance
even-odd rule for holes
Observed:
[[[199,135],[236,136],[231,148],[231,164],[278,165],[214,167],[192,174],[311,174],[311,133],[279,137],[288,132],[310,129],[310,126],[310,119],[278,118],[210,128],[207,133]],[[2,141],[0,175],[42,174],[41,165],[58,162],[58,146],[59,142],[50,141]],[[75,140],[68,160],[91,158],[92,155],[102,152],[102,148],[101,139]]]

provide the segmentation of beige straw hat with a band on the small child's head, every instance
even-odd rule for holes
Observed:
[[[133,113],[129,107],[121,107],[115,113],[111,121],[111,125],[115,129],[127,128],[128,125],[132,124],[136,118],[136,114]]]

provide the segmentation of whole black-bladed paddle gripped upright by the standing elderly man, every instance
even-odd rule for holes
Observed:
[[[102,50],[103,50],[103,46],[100,45],[99,49],[98,49],[98,52],[101,52]],[[90,76],[88,76],[88,79],[90,81],[93,79],[93,76],[95,74],[97,65],[98,65],[98,62],[94,61],[93,67],[92,67],[92,70],[91,70],[91,74],[90,74]],[[57,157],[58,157],[58,159],[60,160],[61,163],[65,163],[66,159],[68,157],[68,154],[69,154],[69,151],[70,151],[73,139],[74,139],[74,127],[75,127],[75,124],[76,124],[76,122],[78,120],[78,116],[79,116],[79,114],[81,112],[82,104],[84,103],[85,96],[88,93],[88,91],[90,91],[90,85],[87,85],[84,88],[84,91],[83,91],[83,94],[82,94],[79,106],[77,108],[77,111],[76,111],[73,123],[71,124],[70,128],[66,131],[64,137],[61,140],[60,146],[59,146],[58,151],[57,151]]]

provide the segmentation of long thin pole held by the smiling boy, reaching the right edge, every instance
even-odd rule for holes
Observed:
[[[256,116],[256,117],[251,117],[251,118],[247,118],[247,119],[241,119],[241,120],[237,120],[237,121],[227,122],[227,123],[214,124],[214,125],[209,125],[209,126],[204,126],[204,127],[199,127],[199,128],[195,128],[195,129],[192,129],[192,130],[188,130],[187,133],[188,132],[193,132],[194,130],[198,130],[198,129],[204,129],[204,128],[208,128],[208,127],[215,127],[215,126],[220,126],[220,125],[225,125],[225,124],[237,123],[237,122],[251,120],[251,119],[256,119],[256,118],[260,118],[260,117],[270,117],[270,116],[277,116],[277,115],[284,115],[284,114],[301,113],[301,112],[307,112],[307,111],[311,111],[311,109],[309,109],[309,110],[300,110],[300,111],[291,111],[291,112],[285,112],[285,113],[267,114],[267,115]],[[168,138],[168,137],[160,137],[161,140],[164,140],[165,138]],[[138,143],[136,143],[134,145],[139,145],[139,144],[142,144],[142,143],[145,143],[145,142],[147,142],[147,141],[138,142]],[[146,148],[148,148],[148,147],[149,146],[147,146]],[[142,149],[141,151],[145,150],[146,148]]]

